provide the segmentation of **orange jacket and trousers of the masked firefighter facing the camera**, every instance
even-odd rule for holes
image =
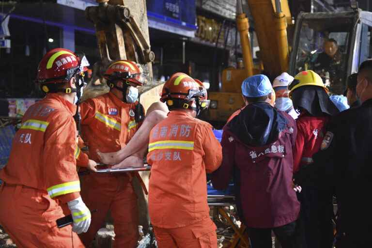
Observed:
[[[82,138],[88,144],[89,158],[99,161],[96,150],[103,153],[122,149],[140,124],[135,121],[137,104],[121,101],[113,93],[106,93],[84,101],[80,106]],[[88,155],[80,153],[80,161]],[[89,245],[105,222],[109,210],[114,220],[114,247],[133,248],[138,239],[137,196],[126,173],[90,173],[82,176],[81,196],[92,213],[92,223],[87,233],[80,234]]]

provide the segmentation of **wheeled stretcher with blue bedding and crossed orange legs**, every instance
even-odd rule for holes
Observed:
[[[233,228],[236,234],[229,246],[229,248],[237,248],[239,242],[244,243],[244,247],[250,248],[250,242],[248,236],[245,234],[246,226],[242,223],[238,227],[224,207],[235,206],[235,196],[233,196],[233,184],[230,184],[226,190],[216,190],[210,184],[207,185],[208,192],[208,205],[214,208],[214,213],[219,214],[223,217],[227,223]],[[236,207],[236,206],[235,206]]]

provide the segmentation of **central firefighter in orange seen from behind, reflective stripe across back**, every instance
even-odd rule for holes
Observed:
[[[171,112],[150,133],[150,218],[159,248],[216,248],[205,172],[219,167],[221,145],[212,126],[195,118],[209,105],[202,83],[177,75],[165,83],[160,99]]]

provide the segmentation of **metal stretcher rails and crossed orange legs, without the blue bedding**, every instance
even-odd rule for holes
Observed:
[[[238,228],[233,220],[230,218],[230,216],[226,213],[226,211],[223,209],[224,206],[231,206],[235,205],[235,197],[231,195],[208,195],[208,205],[213,206],[215,209],[217,209],[218,213],[226,219],[226,221],[229,223],[229,225],[233,228],[234,232],[236,233],[236,236],[233,239],[233,242],[231,243],[229,248],[235,248],[239,240],[241,239],[246,246],[250,247],[250,242],[247,238],[247,236],[244,235],[244,232],[246,231],[246,226],[242,223],[240,228]]]

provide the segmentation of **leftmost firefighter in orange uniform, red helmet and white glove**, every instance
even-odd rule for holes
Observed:
[[[0,172],[0,223],[18,247],[84,247],[76,233],[87,232],[91,213],[79,194],[73,118],[84,61],[62,48],[43,57],[37,82],[47,96],[26,111]],[[64,205],[74,224],[58,229]]]

